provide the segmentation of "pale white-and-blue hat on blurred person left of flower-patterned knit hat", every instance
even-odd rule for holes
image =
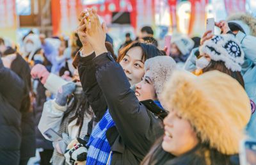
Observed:
[[[195,42],[186,35],[173,35],[172,43],[177,45],[183,55],[189,54],[195,44]]]

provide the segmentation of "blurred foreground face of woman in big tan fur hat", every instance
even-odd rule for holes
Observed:
[[[188,120],[171,110],[164,118],[163,150],[179,156],[192,150],[197,144],[198,138]]]

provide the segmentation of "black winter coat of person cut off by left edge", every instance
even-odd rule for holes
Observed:
[[[0,59],[0,164],[19,164],[24,82]]]

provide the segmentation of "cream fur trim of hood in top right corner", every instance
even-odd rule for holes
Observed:
[[[244,29],[244,31],[249,28],[250,31],[247,31],[247,33],[249,32],[249,34],[246,35],[256,36],[256,19],[249,13],[236,13],[234,15],[230,15],[230,17],[227,18],[227,21],[235,21],[235,23],[239,24]]]

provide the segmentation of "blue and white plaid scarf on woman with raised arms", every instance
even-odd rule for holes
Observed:
[[[157,106],[162,107],[159,101],[154,101]],[[111,146],[106,138],[106,132],[109,128],[115,126],[107,110],[99,123],[95,126],[90,136],[87,146],[89,146],[86,165],[106,165],[111,152]],[[111,160],[111,159],[110,159]],[[110,161],[109,161],[110,162]]]

